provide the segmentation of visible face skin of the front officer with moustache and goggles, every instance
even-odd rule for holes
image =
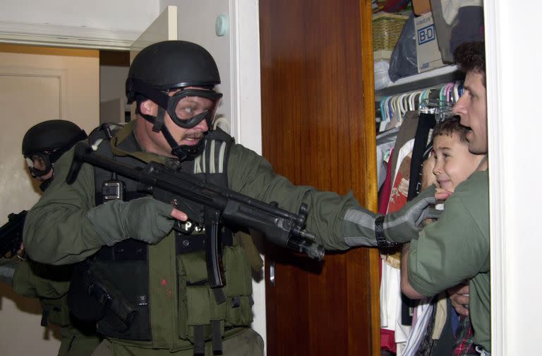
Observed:
[[[179,90],[171,90],[169,96],[174,95],[177,91]],[[215,102],[205,97],[189,97],[183,101],[183,105],[183,110],[185,112],[190,111],[192,114],[198,114],[207,109],[212,109],[215,106]],[[152,100],[145,100],[145,102],[141,104],[140,110],[143,114],[150,114],[155,117],[158,114],[158,105],[155,102],[152,102]],[[136,129],[138,140],[148,152],[157,153],[158,155],[167,157],[175,157],[174,155],[171,155],[171,147],[169,146],[169,143],[167,143],[162,132],[152,131],[152,124],[143,118],[138,119],[138,121],[140,121],[138,126],[145,125],[143,134],[141,134],[142,131]],[[195,146],[201,141],[203,134],[209,131],[209,126],[205,120],[200,121],[190,129],[184,129],[181,126],[176,125],[167,112],[164,116],[164,124],[179,146]]]

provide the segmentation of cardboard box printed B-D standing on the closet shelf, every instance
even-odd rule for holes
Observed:
[[[433,14],[429,12],[414,18],[414,32],[416,34],[418,73],[445,66],[438,49]]]

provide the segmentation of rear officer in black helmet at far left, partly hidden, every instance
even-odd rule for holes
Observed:
[[[75,143],[87,138],[85,131],[66,120],[43,121],[32,126],[23,138],[23,155],[33,178],[42,182],[45,191],[54,177],[54,163]],[[59,354],[91,355],[100,343],[95,326],[71,319],[67,293],[71,266],[47,266],[24,258],[2,259],[0,280],[25,297],[39,298],[42,305],[42,326],[47,323],[60,327]]]

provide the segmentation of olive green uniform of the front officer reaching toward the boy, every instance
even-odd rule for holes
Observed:
[[[119,136],[132,129],[133,124],[129,124],[119,132]],[[112,146],[115,145],[113,142]],[[113,152],[116,152],[115,147]],[[164,158],[157,155],[145,155],[148,160],[164,161]],[[65,179],[72,158],[73,150],[56,162],[54,182],[28,213],[24,242],[28,254],[37,261],[76,263],[92,256],[104,246],[104,241],[87,217],[88,211],[95,207],[93,168],[84,164],[76,182],[68,185]],[[236,144],[231,146],[227,178],[230,189],[261,201],[276,201],[285,210],[297,212],[301,203],[307,203],[309,210],[306,228],[315,233],[317,242],[327,249],[349,248],[342,236],[342,217],[349,208],[360,208],[351,194],[339,196],[332,192],[317,191],[311,186],[294,186],[286,178],[275,174],[267,160]],[[175,246],[175,235],[171,232],[159,243],[149,245],[147,250],[152,340],[109,338],[115,354],[128,355],[133,352],[146,355],[151,349],[162,349],[164,354],[179,352],[181,355],[191,355],[191,326],[208,323],[215,314],[224,314],[224,307],[217,306],[212,300],[210,288],[200,285],[207,278],[203,251],[176,255]],[[227,297],[240,296],[238,302],[241,309],[248,307],[250,310],[251,267],[246,251],[235,244],[225,247],[223,259],[227,280],[224,293]],[[207,309],[200,307],[202,303],[208,305]],[[246,312],[236,312],[236,309],[230,307],[225,313],[224,350],[228,339],[246,331],[252,321],[251,313],[247,315]]]

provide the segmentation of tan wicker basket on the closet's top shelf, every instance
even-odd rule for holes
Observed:
[[[409,16],[379,12],[373,15],[373,51],[393,51]]]

